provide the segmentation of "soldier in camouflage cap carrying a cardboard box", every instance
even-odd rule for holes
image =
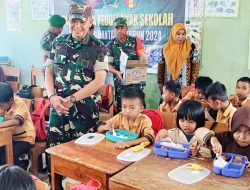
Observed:
[[[107,54],[109,70],[114,74],[115,100],[117,109],[120,112],[122,91],[128,87],[136,87],[143,90],[145,86],[142,84],[123,85],[123,72],[120,71],[121,51],[127,54],[128,60],[139,60],[141,56],[146,60],[146,52],[142,41],[138,37],[127,35],[128,26],[126,18],[116,18],[113,22],[113,28],[116,38],[107,44]]]

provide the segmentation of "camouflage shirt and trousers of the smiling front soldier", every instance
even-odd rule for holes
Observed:
[[[84,88],[95,77],[95,71],[108,70],[105,46],[95,37],[88,35],[82,40],[71,34],[58,36],[49,56],[54,66],[56,94],[67,97]],[[78,101],[69,110],[69,115],[61,115],[52,107],[48,146],[76,139],[97,130],[99,120],[99,92]]]

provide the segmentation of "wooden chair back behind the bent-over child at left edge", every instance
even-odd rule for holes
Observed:
[[[11,86],[14,93],[16,93],[21,84],[21,69],[7,65],[3,65],[2,69],[7,83]]]

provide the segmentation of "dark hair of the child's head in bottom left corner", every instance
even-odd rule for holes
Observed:
[[[35,190],[32,177],[18,166],[5,165],[0,169],[0,187],[8,190]]]

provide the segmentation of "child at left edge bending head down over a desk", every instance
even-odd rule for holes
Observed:
[[[3,82],[0,82],[0,115],[4,117],[0,128],[13,127],[14,164],[21,166],[19,157],[27,154],[35,144],[36,133],[26,104],[14,96],[12,88]],[[5,148],[0,147],[0,165],[5,163],[4,152]]]

